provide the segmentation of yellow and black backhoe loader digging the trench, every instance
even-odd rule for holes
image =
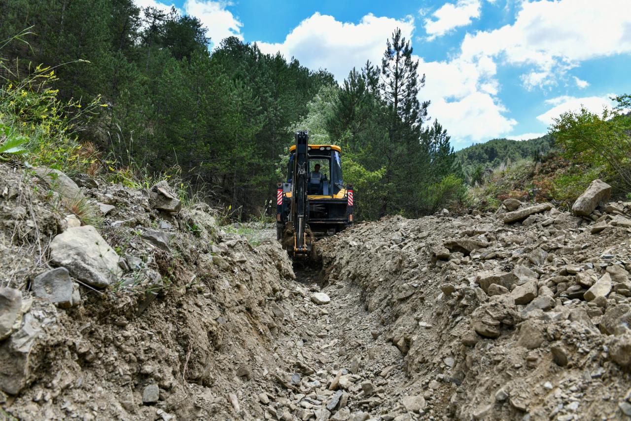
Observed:
[[[353,188],[345,185],[337,145],[312,145],[307,131],[290,147],[287,180],[278,183],[276,237],[293,257],[309,255],[315,236],[353,223]]]

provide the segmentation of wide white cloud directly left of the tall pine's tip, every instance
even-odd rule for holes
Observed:
[[[356,24],[314,13],[293,28],[283,42],[257,44],[262,52],[280,51],[286,58],[293,56],[311,69],[326,68],[341,81],[353,66],[359,69],[367,59],[380,65],[386,39],[396,28],[401,28],[401,34],[411,39],[413,18],[398,20],[369,13]]]

